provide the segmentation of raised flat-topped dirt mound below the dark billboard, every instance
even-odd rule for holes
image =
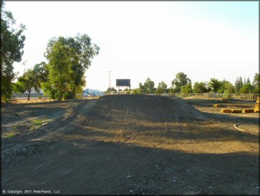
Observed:
[[[201,121],[204,116],[178,97],[121,94],[100,98],[92,117],[115,121]],[[130,117],[130,118],[129,118]]]

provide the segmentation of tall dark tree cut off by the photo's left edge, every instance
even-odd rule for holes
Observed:
[[[10,11],[4,11],[4,1],[1,3],[1,97],[8,101],[12,94],[13,63],[22,60],[25,36],[22,32],[25,25],[16,29],[15,19]]]

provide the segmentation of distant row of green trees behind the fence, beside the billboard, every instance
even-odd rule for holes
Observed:
[[[251,82],[242,77],[236,78],[235,85],[228,80],[217,80],[210,78],[209,82],[192,82],[188,76],[183,73],[177,73],[174,80],[171,81],[171,86],[162,81],[155,87],[155,82],[147,78],[143,84],[140,82],[139,87],[132,90],[133,94],[162,94],[162,93],[204,93],[204,92],[217,92],[217,93],[254,93],[260,94],[259,90],[259,73],[255,73],[254,80]],[[126,89],[127,90],[127,89]],[[117,92],[114,87],[108,88],[107,92]],[[127,91],[129,93],[129,91]]]

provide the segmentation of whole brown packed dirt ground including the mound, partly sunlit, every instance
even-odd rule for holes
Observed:
[[[1,192],[259,195],[259,114],[220,114],[215,102],[125,94],[3,104]]]

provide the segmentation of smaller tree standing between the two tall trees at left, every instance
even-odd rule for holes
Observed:
[[[30,100],[32,87],[34,87],[34,90],[37,90],[39,92],[39,89],[41,88],[41,83],[46,82],[47,76],[48,71],[46,70],[46,63],[41,62],[39,64],[36,64],[34,68],[25,71],[25,73],[23,73],[23,75],[18,78],[18,84],[20,85],[20,87],[23,87],[22,90],[28,91],[28,101]]]

